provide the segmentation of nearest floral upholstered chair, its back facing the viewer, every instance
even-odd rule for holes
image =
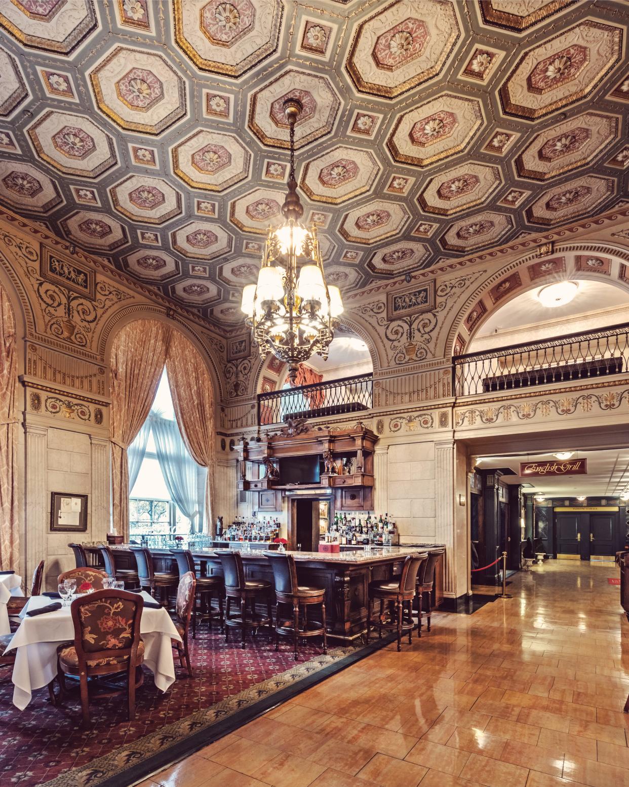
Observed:
[[[129,721],[135,719],[135,689],[142,685],[144,660],[140,638],[143,607],[142,596],[125,590],[96,590],[72,601],[74,643],[57,648],[57,677],[60,700],[66,691],[65,675],[79,678],[86,725],[90,721],[87,679],[120,672],[127,673]]]

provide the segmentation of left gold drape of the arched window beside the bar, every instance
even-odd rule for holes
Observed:
[[[128,323],[113,340],[111,414],[113,527],[129,539],[128,446],[149,415],[166,363],[171,329],[157,320]]]

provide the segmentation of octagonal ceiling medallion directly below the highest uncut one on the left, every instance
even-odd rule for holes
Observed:
[[[142,224],[165,224],[181,215],[181,194],[161,178],[130,175],[109,189],[113,207]]]

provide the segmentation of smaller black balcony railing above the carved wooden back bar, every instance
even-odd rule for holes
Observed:
[[[357,375],[257,395],[257,423],[286,423],[364,412],[372,407],[373,375]]]

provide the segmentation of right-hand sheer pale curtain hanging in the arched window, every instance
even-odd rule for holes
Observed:
[[[203,494],[199,494],[199,489],[205,489],[207,468],[199,467],[187,452],[176,421],[150,416],[150,427],[170,499],[190,519],[191,533],[197,532],[198,523],[203,521]],[[202,484],[199,474],[202,474]]]

